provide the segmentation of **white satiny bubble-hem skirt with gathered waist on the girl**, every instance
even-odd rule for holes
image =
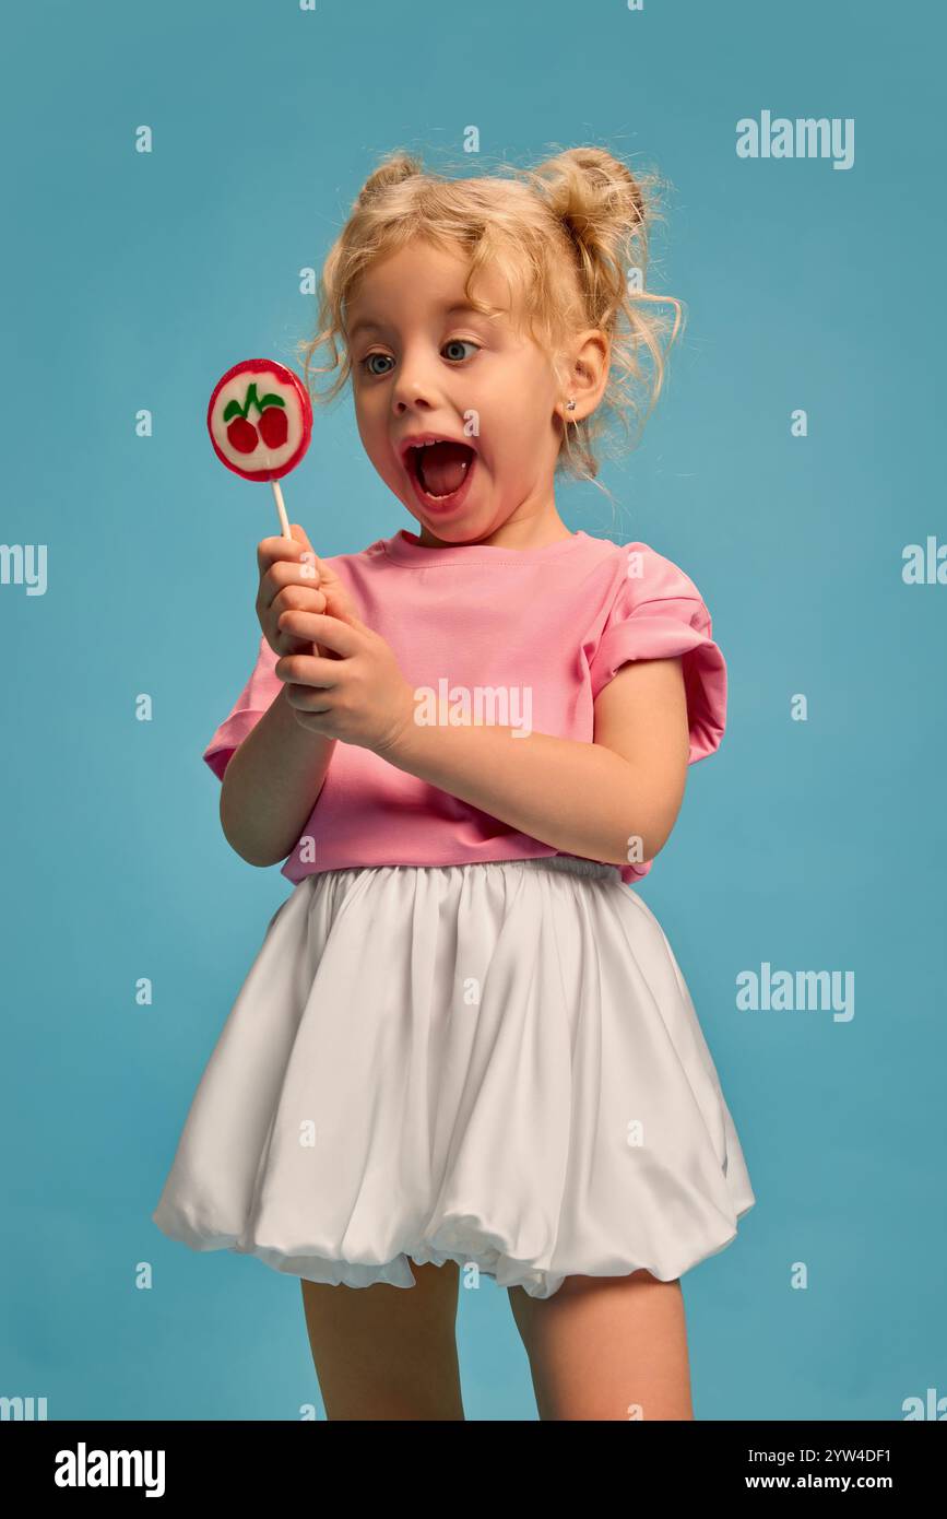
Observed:
[[[549,857],[300,881],[152,1218],[311,1282],[457,1261],[551,1297],[674,1281],[754,1200],[660,924],[609,866]]]

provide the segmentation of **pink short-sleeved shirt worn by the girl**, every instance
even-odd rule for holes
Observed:
[[[496,723],[590,743],[593,702],[630,659],[683,656],[689,763],[719,746],[727,668],[694,582],[647,544],[578,532],[543,548],[425,548],[405,529],[328,557],[360,617],[395,650],[429,722]],[[203,758],[223,778],[281,690],[264,638]],[[466,705],[464,705],[466,703]],[[510,743],[522,738],[510,737]],[[521,834],[355,744],[337,743],[282,875],[382,864],[464,864],[568,854]],[[616,866],[633,884],[651,861]]]

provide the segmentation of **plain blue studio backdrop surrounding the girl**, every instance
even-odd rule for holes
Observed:
[[[671,184],[651,286],[687,328],[640,447],[604,471],[621,521],[593,486],[557,500],[571,529],[680,564],[728,661],[721,752],[640,887],[757,1195],[683,1279],[697,1416],[901,1419],[947,1393],[947,588],[901,579],[903,547],[945,532],[941,14],[46,3],[6,44],[2,536],[49,545],[49,588],[0,586],[0,1393],[50,1419],[322,1417],[297,1281],[150,1221],[287,895],[228,848],[200,761],[252,667],[255,544],[278,530],[205,410],[237,358],[293,362],[299,270],[378,158],[437,169],[470,123],[470,173],[595,143]],[[763,109],[854,117],[854,166],[739,159],[736,122]],[[414,526],[348,395],[284,492],[323,554]],[[762,962],[853,971],[854,1018],[738,1012]],[[534,1419],[505,1291],[461,1293],[458,1337],[467,1417]]]

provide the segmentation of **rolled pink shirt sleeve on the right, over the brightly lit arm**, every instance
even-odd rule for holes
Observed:
[[[671,559],[647,544],[627,544],[624,553],[625,571],[589,665],[592,697],[631,659],[681,655],[694,764],[719,747],[727,726],[727,665],[710,612]]]

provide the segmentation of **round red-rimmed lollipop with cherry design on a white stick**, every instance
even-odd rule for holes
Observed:
[[[279,480],[313,437],[313,403],[297,374],[275,358],[243,358],[214,386],[208,433],[222,465],[244,480],[269,480],[282,536],[291,538]]]

